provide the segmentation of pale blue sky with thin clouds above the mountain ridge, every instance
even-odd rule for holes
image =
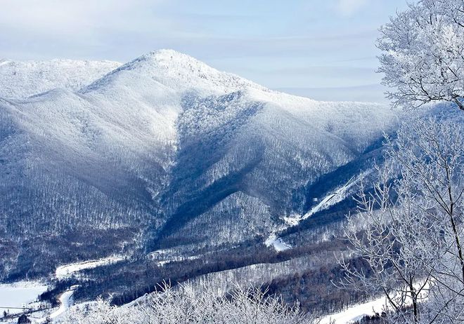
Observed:
[[[378,27],[406,0],[1,0],[0,58],[126,62],[158,48],[318,100],[382,101]]]

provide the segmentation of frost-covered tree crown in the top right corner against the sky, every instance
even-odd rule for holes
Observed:
[[[380,32],[379,71],[394,106],[446,101],[464,110],[464,1],[420,0]]]

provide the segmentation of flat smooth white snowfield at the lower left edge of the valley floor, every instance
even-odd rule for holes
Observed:
[[[47,285],[37,281],[19,281],[17,283],[0,283],[0,318],[7,313],[22,313],[24,306],[30,306]],[[14,308],[8,308],[14,307]]]

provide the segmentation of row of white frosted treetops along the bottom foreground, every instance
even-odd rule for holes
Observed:
[[[163,287],[131,306],[111,306],[98,299],[92,304],[74,306],[60,323],[78,324],[313,324],[314,316],[297,305],[286,306],[277,297],[265,297],[257,288],[237,288],[217,296],[210,288],[201,292],[190,285],[178,289]]]

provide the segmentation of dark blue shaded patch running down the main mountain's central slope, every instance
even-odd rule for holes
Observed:
[[[177,121],[176,165],[161,199],[166,222],[152,235],[148,250],[165,248],[163,238],[239,191],[243,177],[257,166],[264,153],[262,140],[254,137],[246,143],[252,154],[237,154],[237,161],[226,157],[236,135],[262,109],[262,103],[247,101],[240,91],[206,98],[190,93],[183,97],[182,107]],[[224,170],[224,175],[208,175],[215,163],[226,158],[231,167]]]

